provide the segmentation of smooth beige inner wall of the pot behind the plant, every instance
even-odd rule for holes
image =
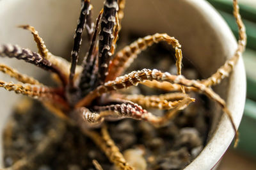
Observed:
[[[196,1],[129,0],[125,8],[122,30],[136,31],[143,36],[154,33],[168,33],[170,36],[175,36],[189,61],[204,77],[208,77],[216,71],[227,56],[230,56],[232,51],[229,50],[228,45],[234,46],[235,42],[234,37],[230,35],[231,32],[223,34],[219,31],[221,28],[216,28],[212,24],[216,21],[214,18],[209,20],[211,13],[205,14],[198,10]],[[92,3],[95,5],[94,15],[96,16],[103,1]],[[69,56],[79,10],[80,1],[78,0],[72,2],[70,0],[2,0],[0,1],[0,43],[17,43],[36,51],[36,45],[30,33],[16,27],[20,24],[30,24],[35,26],[53,54]],[[231,44],[225,43],[225,46],[222,40],[228,37],[233,39]],[[3,62],[6,63],[5,61],[7,60],[4,59]],[[7,63],[18,67],[18,70],[28,75],[40,76],[41,72],[31,73],[31,69],[34,70],[35,67],[17,63],[14,59],[8,59]],[[2,75],[0,78],[6,80]],[[217,93],[224,95],[223,90],[220,89],[217,89]],[[17,95],[10,95],[3,89],[0,90],[1,96],[4,95],[10,100],[6,102],[6,99],[1,98],[0,107],[5,108],[4,112],[9,113],[12,105],[18,100]],[[1,114],[3,115],[3,112]],[[220,112],[217,111],[214,115],[218,118]],[[0,128],[4,127],[5,120],[5,118],[1,119]],[[0,145],[2,146],[1,142]]]

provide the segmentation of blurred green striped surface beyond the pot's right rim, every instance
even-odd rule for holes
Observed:
[[[227,21],[236,38],[238,29],[232,15],[232,0],[207,0]],[[256,6],[256,0],[254,0]],[[243,1],[242,1],[243,2]],[[246,68],[247,99],[244,115],[239,127],[240,141],[237,149],[256,156],[256,7],[242,4],[239,1],[240,13],[248,36],[246,51],[243,54]]]

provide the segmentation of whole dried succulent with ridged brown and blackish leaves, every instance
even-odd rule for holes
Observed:
[[[129,166],[122,153],[115,146],[114,141],[108,134],[106,125],[102,126],[102,134],[93,131],[92,128],[100,127],[106,120],[120,120],[123,118],[148,121],[152,125],[161,127],[180,110],[185,109],[189,103],[195,101],[194,98],[189,97],[189,94],[186,94],[188,91],[204,93],[220,104],[236,132],[237,144],[238,132],[230,111],[228,111],[225,101],[211,89],[212,86],[220,83],[232,72],[246,45],[246,33],[239,15],[237,0],[234,0],[234,17],[239,27],[237,50],[234,56],[228,59],[216,73],[202,81],[189,80],[182,75],[181,45],[178,40],[165,33],[156,33],[152,36],[139,38],[136,42],[115,54],[116,40],[121,29],[120,22],[124,17],[125,0],[106,0],[104,8],[100,11],[95,23],[92,21],[90,0],[82,0],[81,5],[81,13],[74,35],[74,46],[71,52],[71,63],[52,55],[47,50],[38,32],[31,26],[20,27],[31,31],[38,47],[38,53],[21,48],[18,45],[0,46],[1,57],[22,59],[27,63],[52,72],[57,75],[56,81],[61,82],[60,86],[58,88],[45,86],[32,77],[23,75],[13,70],[13,68],[1,64],[1,72],[21,82],[20,84],[14,84],[0,81],[1,87],[8,91],[15,91],[15,93],[36,98],[58,116],[78,125],[81,131],[91,137],[100,149],[106,153],[109,160],[120,169],[134,168]],[[84,29],[86,29],[90,39],[90,47],[83,59],[83,64],[79,66],[77,61]],[[122,75],[141,50],[146,50],[153,43],[161,41],[167,42],[175,49],[177,75],[146,68]],[[70,72],[68,72],[68,69],[70,69]],[[176,92],[155,96],[122,95],[115,92],[138,84]],[[168,112],[162,117],[157,117],[145,110],[147,108],[166,109]],[[44,141],[42,141],[42,145],[44,145]],[[40,153],[40,147],[36,153]],[[34,155],[28,155],[28,158],[14,164],[13,169],[17,169],[16,167],[19,167],[20,164],[33,161],[33,157]],[[93,164],[97,169],[102,169],[97,160],[93,160]]]

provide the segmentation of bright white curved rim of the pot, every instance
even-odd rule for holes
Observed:
[[[220,13],[218,13],[207,1],[186,1],[194,8],[198,8],[203,15],[213,17],[214,19],[211,20],[211,22],[215,27],[218,27],[218,31],[220,31],[220,33],[227,35],[230,33],[232,34],[227,22],[225,22]],[[223,45],[227,45],[227,43],[230,41],[232,44],[235,44],[231,47],[234,53],[237,48],[237,42],[233,34],[230,38],[223,38]],[[231,57],[232,56],[228,56],[228,58]],[[234,91],[236,91],[239,96],[235,97]],[[243,116],[246,98],[246,74],[242,57],[234,67],[234,71],[230,74],[227,96],[227,107],[230,109],[230,111],[232,111],[234,123],[238,128]],[[201,153],[195,158],[195,160],[193,160],[185,169],[215,169],[225,154],[225,151],[227,151],[228,146],[230,146],[230,143],[232,143],[234,134],[235,133],[232,129],[230,120],[228,120],[226,114],[223,114],[220,122],[218,123],[218,127],[214,131],[214,134],[212,134],[211,139],[208,141]]]

